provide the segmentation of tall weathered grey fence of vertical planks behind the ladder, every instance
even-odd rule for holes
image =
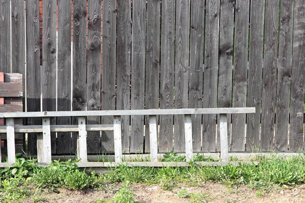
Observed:
[[[230,151],[304,149],[304,0],[42,4],[41,14],[39,0],[0,3],[0,72],[26,75],[26,111],[255,107],[255,114],[228,115]],[[220,150],[219,118],[192,115],[194,152]],[[91,125],[112,122],[87,117]],[[149,152],[148,116],[121,122],[123,152]],[[158,151],[184,152],[184,117],[156,122]],[[51,145],[53,154],[74,153],[76,136],[52,133]],[[29,133],[29,152],[36,146]],[[113,132],[88,132],[87,151],[114,153]]]

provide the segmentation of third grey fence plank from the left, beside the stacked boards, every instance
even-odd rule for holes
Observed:
[[[27,111],[40,111],[39,1],[26,0],[25,8]],[[41,125],[41,118],[28,118],[27,124]],[[37,153],[37,136],[34,133],[28,134],[28,151],[30,154]]]

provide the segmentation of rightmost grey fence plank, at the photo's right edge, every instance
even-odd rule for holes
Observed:
[[[294,1],[289,150],[303,149],[305,77],[305,1]]]

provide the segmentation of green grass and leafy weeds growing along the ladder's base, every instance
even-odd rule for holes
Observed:
[[[195,160],[215,161],[203,155],[196,155]],[[185,156],[171,152],[164,156],[163,161],[184,161]],[[233,159],[235,160],[235,159]],[[47,188],[56,191],[62,187],[71,190],[85,188],[109,189],[115,183],[123,183],[112,200],[126,198],[132,203],[133,192],[129,185],[142,183],[144,185],[156,184],[164,190],[178,188],[178,183],[190,186],[204,185],[208,181],[227,184],[230,186],[247,185],[257,189],[257,196],[263,191],[286,185],[305,183],[305,154],[290,157],[277,157],[275,154],[257,156],[254,164],[240,164],[239,166],[197,166],[190,163],[188,167],[127,167],[124,165],[110,168],[107,174],[87,174],[79,170],[73,161],[53,161],[50,166],[36,165],[35,159],[17,159],[15,168],[0,169],[0,202],[20,202],[29,195],[29,185],[38,189]],[[181,198],[193,198],[192,202],[202,202],[205,197],[181,190]],[[42,201],[33,196],[32,199]],[[190,199],[192,200],[192,199]],[[125,202],[126,202],[125,201]]]

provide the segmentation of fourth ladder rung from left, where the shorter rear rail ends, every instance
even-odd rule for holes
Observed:
[[[121,116],[114,116],[114,156],[115,162],[122,162]]]

